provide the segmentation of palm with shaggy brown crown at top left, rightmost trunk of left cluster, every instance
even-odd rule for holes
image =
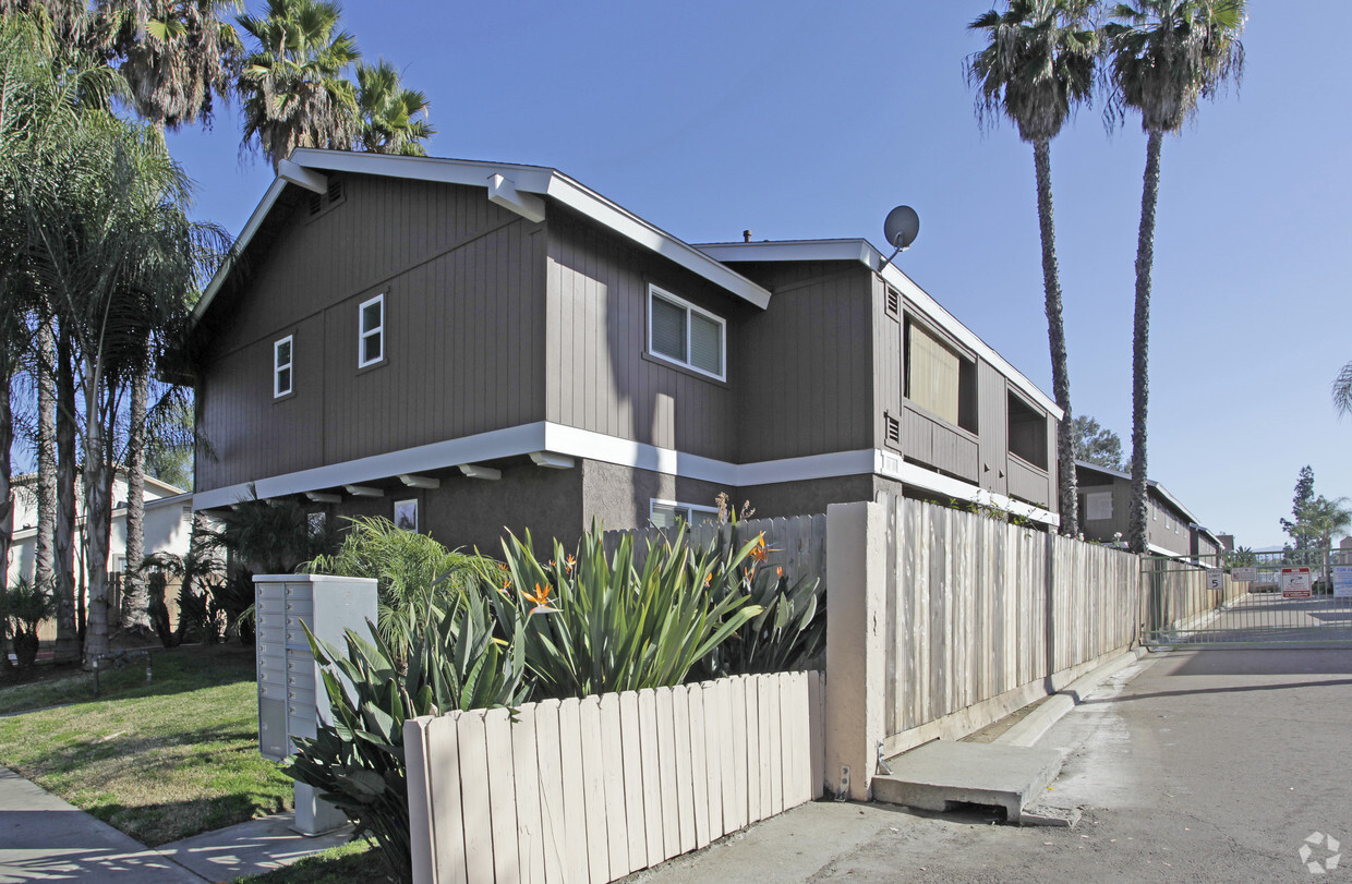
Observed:
[[[239,76],[243,46],[220,0],[100,0],[112,23],[110,51],[120,58],[131,104],[155,130],[207,123],[214,97],[228,97]],[[147,341],[149,346],[149,341]],[[126,581],[122,626],[150,630],[145,558],[146,411],[150,360],[131,378],[127,419]]]

